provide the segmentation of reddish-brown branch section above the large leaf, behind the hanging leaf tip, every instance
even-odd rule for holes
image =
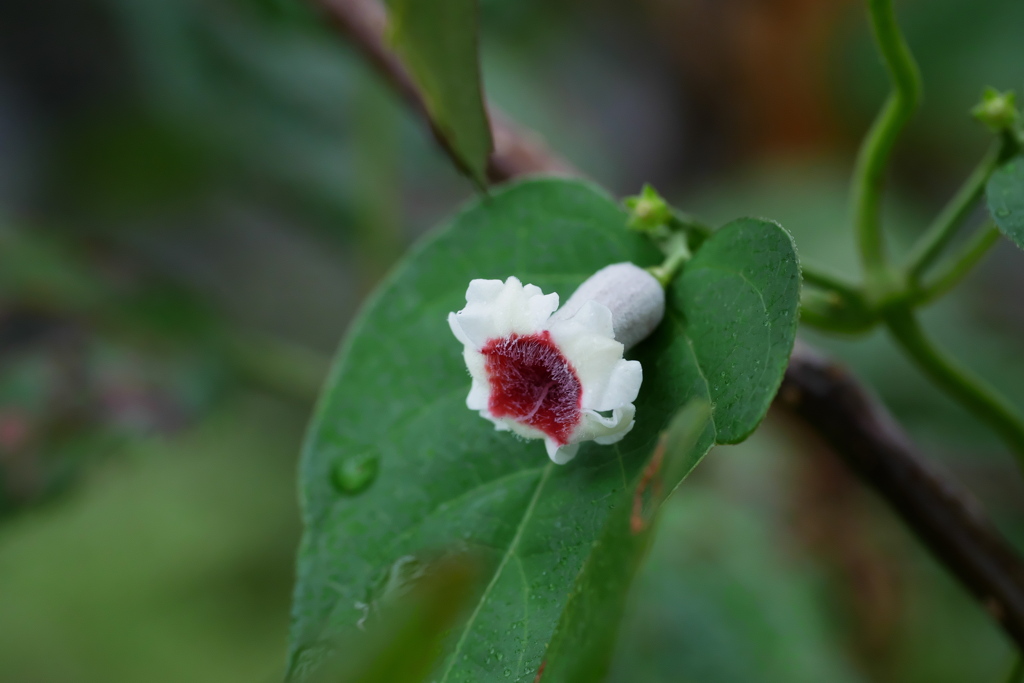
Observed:
[[[406,103],[426,122],[434,139],[458,166],[458,156],[427,113],[423,93],[413,82],[404,65],[385,42],[387,15],[383,6],[377,0],[312,1],[325,10],[332,23],[362,52]],[[495,151],[487,163],[487,176],[493,182],[502,182],[532,173],[582,175],[568,162],[548,151],[536,133],[512,123],[494,106],[487,106],[487,114],[490,119],[490,133],[495,140]]]

